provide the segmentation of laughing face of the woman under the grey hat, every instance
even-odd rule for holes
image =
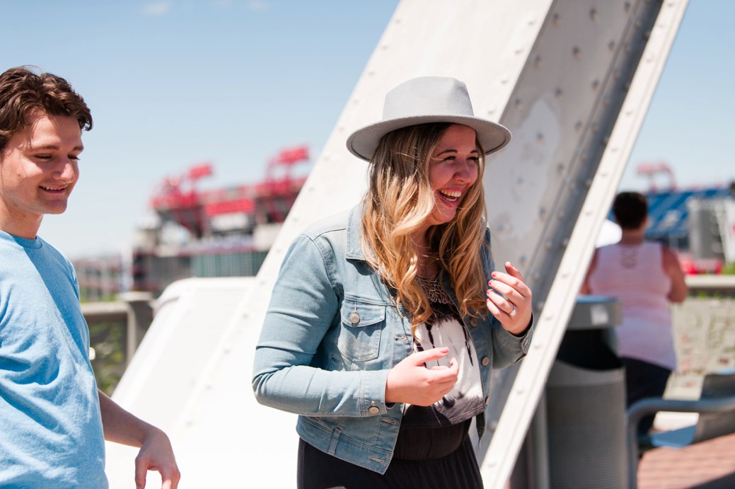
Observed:
[[[436,203],[424,223],[427,229],[454,218],[467,189],[477,182],[479,158],[475,130],[449,126],[429,161],[429,183]]]

